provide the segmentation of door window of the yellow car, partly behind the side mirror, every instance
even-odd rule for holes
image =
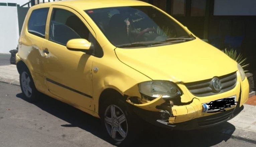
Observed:
[[[103,56],[103,50],[97,40],[74,13],[54,8],[49,29],[49,40],[66,46],[71,39],[84,38],[92,43],[92,55]]]

